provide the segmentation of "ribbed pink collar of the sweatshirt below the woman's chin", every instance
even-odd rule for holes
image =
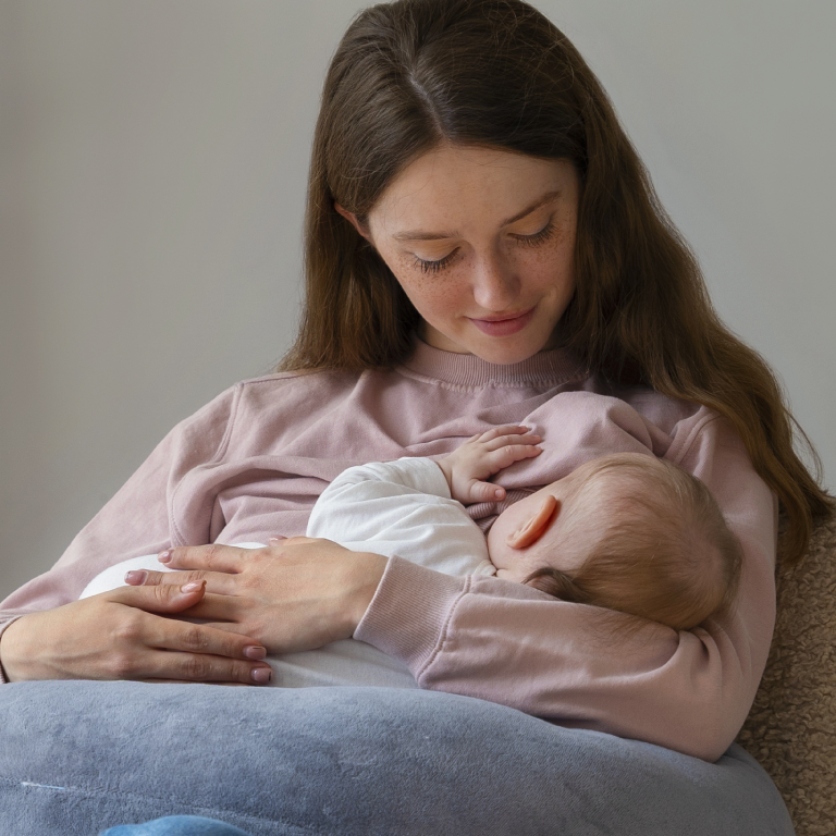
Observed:
[[[542,386],[560,385],[581,374],[580,364],[565,351],[540,352],[521,362],[500,366],[487,362],[474,354],[443,352],[416,340],[415,353],[399,367],[455,386]]]

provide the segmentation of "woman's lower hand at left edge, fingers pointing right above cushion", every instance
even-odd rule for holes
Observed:
[[[268,683],[263,647],[251,638],[165,617],[197,604],[204,585],[121,587],[29,613],[2,635],[9,681],[145,679]]]

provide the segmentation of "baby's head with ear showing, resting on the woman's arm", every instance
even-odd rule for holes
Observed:
[[[639,453],[595,458],[501,514],[497,577],[687,630],[730,604],[742,555],[697,478]]]

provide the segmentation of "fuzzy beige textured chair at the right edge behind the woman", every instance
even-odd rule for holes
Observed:
[[[763,681],[737,742],[770,773],[797,836],[836,834],[836,521],[778,569]]]

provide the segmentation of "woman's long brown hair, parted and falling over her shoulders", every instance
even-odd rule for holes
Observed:
[[[787,513],[784,560],[800,560],[834,505],[796,455],[794,427],[816,471],[817,456],[770,368],[717,318],[598,78],[521,0],[398,0],[348,27],[314,136],[305,307],[280,370],[384,369],[410,354],[420,318],[334,201],[366,223],[393,179],[440,144],[571,161],[577,290],[561,344],[612,383],[724,415]]]

